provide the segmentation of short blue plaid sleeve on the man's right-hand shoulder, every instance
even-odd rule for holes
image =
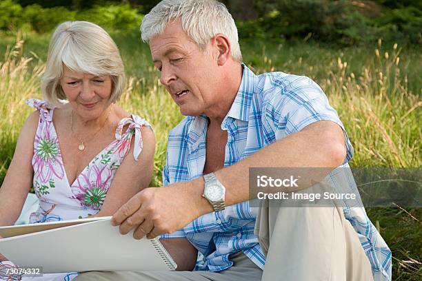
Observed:
[[[343,164],[348,163],[353,156],[352,143],[321,87],[306,76],[288,76],[285,79],[289,82],[279,81],[283,87],[271,96],[265,113],[272,119],[270,123],[274,124],[276,139],[299,132],[317,121],[332,121],[343,129],[347,150]]]

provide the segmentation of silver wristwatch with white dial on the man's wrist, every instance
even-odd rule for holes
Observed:
[[[217,179],[214,173],[203,176],[205,180],[205,187],[203,188],[202,197],[208,200],[214,211],[221,211],[224,209],[225,187]]]

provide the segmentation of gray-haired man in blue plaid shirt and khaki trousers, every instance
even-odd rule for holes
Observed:
[[[352,146],[316,83],[256,76],[217,1],[161,1],[141,34],[187,117],[169,134],[166,187],[144,189],[112,221],[137,239],[167,233],[161,242],[178,271],[77,280],[390,280],[390,249],[363,208],[258,209],[248,201],[250,167],[348,167]],[[191,271],[198,251],[203,260]]]

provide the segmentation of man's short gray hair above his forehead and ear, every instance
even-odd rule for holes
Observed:
[[[171,21],[181,19],[183,31],[188,34],[200,50],[216,34],[228,37],[232,58],[242,61],[239,37],[232,15],[223,3],[215,0],[163,0],[145,15],[141,23],[141,37],[144,42],[161,34]]]

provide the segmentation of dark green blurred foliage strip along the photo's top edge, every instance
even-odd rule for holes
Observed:
[[[1,0],[0,30],[49,32],[84,19],[114,30],[137,29],[159,1]],[[224,0],[240,37],[251,40],[316,39],[343,45],[378,38],[422,43],[421,0]]]

